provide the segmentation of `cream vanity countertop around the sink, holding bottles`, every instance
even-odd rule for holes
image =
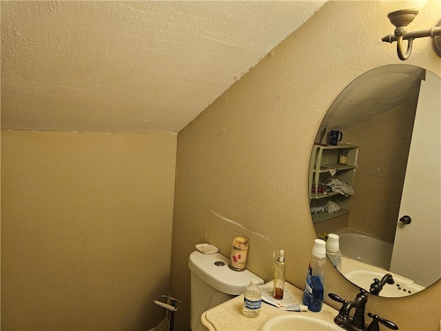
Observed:
[[[285,290],[291,292],[296,299],[296,303],[302,304],[302,290],[289,283],[285,283]],[[242,314],[242,306],[243,294],[204,312],[201,316],[201,323],[209,331],[257,331],[260,325],[269,317],[279,314],[306,314],[330,323],[334,323],[334,317],[338,314],[338,310],[331,308],[325,303],[323,303],[323,308],[320,312],[285,312],[274,305],[262,302],[259,316],[249,318]]]

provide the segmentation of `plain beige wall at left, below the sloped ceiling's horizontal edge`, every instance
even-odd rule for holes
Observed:
[[[175,134],[2,131],[2,330],[159,323],[175,160]]]

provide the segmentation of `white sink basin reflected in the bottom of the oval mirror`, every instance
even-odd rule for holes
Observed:
[[[369,287],[373,283],[374,278],[382,279],[384,272],[377,272],[373,270],[351,270],[345,274],[345,277],[352,283],[365,288],[369,292]],[[411,279],[400,277],[393,274],[394,284],[385,284],[379,294],[380,297],[407,297],[410,294],[424,290],[421,285],[413,283]]]

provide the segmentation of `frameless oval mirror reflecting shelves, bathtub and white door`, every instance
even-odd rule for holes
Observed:
[[[440,94],[440,77],[422,68],[370,70],[332,103],[311,152],[317,235],[337,234],[334,265],[380,297],[441,278]]]

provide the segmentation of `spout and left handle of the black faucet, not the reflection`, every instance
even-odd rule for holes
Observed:
[[[360,293],[356,295],[353,301],[343,300],[338,297],[337,294],[329,293],[329,298],[334,301],[342,303],[342,308],[338,311],[338,315],[334,319],[334,322],[341,328],[348,331],[363,331],[365,330],[365,309],[367,303],[367,292],[365,289],[360,288]],[[356,308],[353,317],[350,317],[349,313],[353,308]]]

